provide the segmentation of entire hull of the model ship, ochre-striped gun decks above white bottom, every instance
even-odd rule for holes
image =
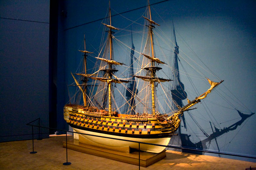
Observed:
[[[79,135],[79,141],[81,143],[86,143],[83,141],[89,141],[90,144],[99,144],[103,147],[112,147],[113,149],[118,147],[139,149],[138,143],[131,142],[137,141],[150,143],[140,144],[141,151],[160,153],[165,147],[151,144],[166,146],[171,140],[174,130],[176,130],[166,128],[170,124],[161,123],[157,118],[152,116],[137,117],[136,115],[128,115],[129,117],[125,117],[125,115],[122,115],[122,117],[119,117],[118,115],[108,116],[101,114],[102,112],[98,110],[93,111],[91,108],[75,108],[73,105],[66,105],[64,107],[64,119],[75,132],[82,133]],[[85,138],[85,140],[82,140],[82,138]]]

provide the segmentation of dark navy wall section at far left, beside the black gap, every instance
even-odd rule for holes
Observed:
[[[1,0],[0,17],[0,141],[31,139],[26,123],[49,126],[49,0]]]

